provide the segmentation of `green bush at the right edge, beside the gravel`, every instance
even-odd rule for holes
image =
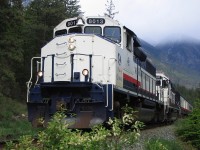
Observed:
[[[200,149],[200,99],[191,114],[177,123],[176,133],[183,140]]]

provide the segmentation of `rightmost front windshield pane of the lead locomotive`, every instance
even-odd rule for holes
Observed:
[[[121,42],[121,32],[119,27],[105,27],[104,36],[116,43]]]

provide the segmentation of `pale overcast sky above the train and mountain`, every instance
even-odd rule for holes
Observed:
[[[200,40],[200,0],[113,0],[115,19],[151,44],[166,38]],[[103,15],[107,0],[80,0],[85,16]]]

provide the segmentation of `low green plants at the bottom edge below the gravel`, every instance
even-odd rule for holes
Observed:
[[[145,143],[147,150],[181,150],[181,146],[175,141],[165,139],[150,139]]]

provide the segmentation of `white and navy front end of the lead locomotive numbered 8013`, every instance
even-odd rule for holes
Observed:
[[[116,52],[123,47],[122,33],[123,26],[108,17],[71,18],[56,26],[41,57],[31,61],[29,121],[48,120],[61,109],[67,110],[72,128],[88,128],[113,117]],[[35,59],[39,76],[32,85]]]

